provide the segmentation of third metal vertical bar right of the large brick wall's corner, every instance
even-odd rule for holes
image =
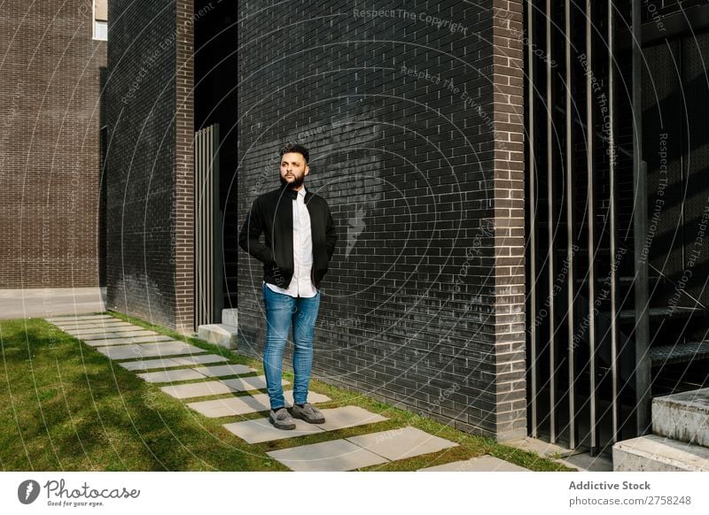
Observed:
[[[571,65],[571,1],[565,1],[565,39],[566,39],[566,262],[568,268],[566,288],[566,321],[568,334],[568,374],[569,374],[569,449],[576,449],[576,405],[574,399],[574,352],[573,352],[573,296],[575,276],[573,274],[573,98]]]

